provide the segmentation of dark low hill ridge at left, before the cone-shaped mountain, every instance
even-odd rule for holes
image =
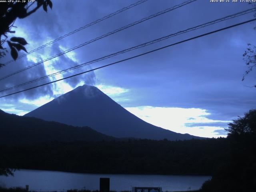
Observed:
[[[86,126],[74,127],[59,122],[8,114],[2,110],[0,133],[0,144],[117,140]]]

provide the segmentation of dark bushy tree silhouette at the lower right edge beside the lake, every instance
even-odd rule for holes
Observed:
[[[256,191],[256,110],[229,124],[226,159],[202,190],[207,192]]]

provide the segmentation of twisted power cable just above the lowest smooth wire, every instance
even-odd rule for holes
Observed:
[[[184,33],[186,33],[186,32],[190,32],[190,31],[193,31],[193,30],[197,30],[197,29],[199,29],[199,28],[203,28],[203,27],[206,27],[206,26],[209,26],[209,25],[212,25],[212,24],[216,24],[216,23],[218,23],[218,22],[222,22],[222,21],[224,21],[224,20],[228,20],[228,19],[231,19],[231,18],[235,18],[235,17],[238,17],[238,16],[242,16],[242,15],[245,15],[245,14],[248,14],[248,13],[251,13],[251,12],[254,12],[254,11],[256,11],[256,8],[252,8],[252,9],[249,9],[249,10],[244,10],[244,11],[242,11],[242,12],[238,12],[238,13],[236,13],[236,14],[232,14],[232,15],[229,15],[229,16],[226,16],[226,17],[223,17],[223,18],[220,18],[220,19],[216,19],[216,20],[213,20],[213,21],[210,21],[210,22],[207,22],[207,23],[204,23],[204,24],[201,24],[201,25],[192,27],[192,28],[188,28],[188,29],[186,29],[186,30],[182,30],[182,31],[179,31],[179,32],[174,33],[174,34],[170,34],[170,35],[168,35],[168,36],[164,36],[164,37],[161,37],[161,38],[152,40],[152,41],[150,41],[150,42],[146,42],[146,43],[140,44],[140,45],[138,45],[138,46],[134,46],[134,47],[131,47],[131,48],[128,48],[128,49],[125,49],[125,50],[122,50],[122,51],[119,51],[119,52],[116,52],[116,53],[113,53],[113,54],[110,54],[110,55],[107,55],[107,56],[104,56],[104,57],[101,57],[101,58],[98,58],[98,59],[95,59],[95,60],[92,60],[92,61],[89,61],[89,62],[86,62],[86,63],[83,63],[83,64],[79,64],[79,65],[76,65],[76,66],[67,68],[67,69],[65,69],[65,70],[61,70],[61,71],[55,72],[55,73],[50,74],[50,75],[47,75],[47,76],[43,76],[43,77],[40,77],[40,78],[36,78],[36,79],[34,79],[34,80],[31,80],[31,81],[28,81],[28,82],[25,82],[25,83],[22,83],[22,84],[18,84],[18,85],[16,85],[16,86],[12,86],[12,87],[6,88],[6,89],[4,89],[4,90],[0,90],[0,92],[7,91],[7,90],[12,90],[12,89],[14,89],[14,88],[18,88],[18,87],[21,87],[21,86],[25,86],[25,85],[31,84],[31,83],[33,83],[33,82],[37,82],[37,81],[40,81],[40,80],[44,80],[44,79],[46,79],[46,78],[49,78],[49,77],[52,77],[52,76],[56,76],[56,75],[62,74],[62,73],[64,73],[64,72],[68,72],[68,71],[70,71],[70,70],[74,70],[74,69],[77,69],[77,68],[80,68],[80,67],[83,67],[83,66],[86,66],[86,65],[95,63],[95,62],[99,62],[99,61],[102,61],[102,60],[111,58],[111,57],[116,56],[116,55],[118,55],[118,54],[126,53],[126,52],[129,52],[129,51],[138,49],[138,48],[142,48],[142,47],[145,47],[145,46],[154,44],[154,43],[156,43],[156,42],[160,42],[160,41],[162,41],[162,40],[166,40],[166,39],[168,39],[168,38],[171,38],[171,37],[174,37],[174,36],[178,36],[178,35],[180,35],[180,34],[184,34]]]

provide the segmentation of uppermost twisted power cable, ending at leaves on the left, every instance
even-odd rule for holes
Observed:
[[[100,18],[100,19],[98,19],[98,20],[95,20],[95,21],[93,21],[93,22],[91,22],[91,23],[89,23],[89,24],[86,24],[85,26],[82,26],[82,27],[80,27],[80,28],[78,28],[78,29],[76,29],[76,30],[74,30],[74,31],[72,31],[72,32],[69,32],[68,34],[65,34],[65,35],[63,35],[63,36],[61,36],[61,37],[59,37],[59,38],[57,38],[57,39],[55,39],[55,40],[52,40],[52,41],[50,41],[50,42],[48,42],[48,43],[46,43],[46,44],[44,44],[44,45],[42,45],[42,46],[40,46],[40,47],[38,47],[38,48],[35,48],[35,49],[31,50],[30,52],[25,53],[25,54],[19,56],[16,60],[18,60],[18,59],[20,59],[20,58],[22,58],[22,57],[24,57],[24,56],[26,56],[26,55],[28,55],[28,54],[30,54],[30,53],[33,53],[33,52],[35,52],[35,51],[37,51],[37,50],[40,50],[40,49],[42,49],[42,48],[44,48],[44,47],[46,47],[46,46],[48,46],[48,45],[50,45],[50,44],[53,44],[53,43],[55,43],[55,42],[57,42],[57,41],[59,41],[59,40],[65,38],[65,37],[68,37],[68,36],[70,36],[70,35],[72,35],[72,34],[78,32],[78,31],[80,31],[80,30],[83,30],[83,29],[85,29],[85,28],[88,28],[88,27],[90,27],[90,26],[92,26],[92,25],[94,25],[94,24],[96,24],[96,23],[99,23],[99,22],[101,22],[101,21],[103,21],[103,20],[106,20],[106,19],[108,19],[108,18],[110,18],[110,17],[112,17],[112,16],[114,16],[114,15],[117,15],[117,14],[123,12],[123,11],[126,11],[126,10],[128,10],[128,9],[130,9],[130,8],[132,8],[132,7],[135,7],[135,6],[139,5],[139,4],[142,4],[142,3],[146,2],[146,1],[148,1],[148,0],[140,0],[140,1],[136,2],[136,3],[134,3],[134,4],[131,4],[131,5],[127,6],[127,7],[122,8],[122,9],[120,9],[120,10],[114,12],[114,13],[108,14],[107,16],[104,16],[104,17],[102,17],[102,18]],[[15,61],[15,60],[10,60],[10,61],[6,62],[5,65],[7,65],[7,64],[9,64],[9,63],[11,63],[11,62],[13,62],[13,61]]]

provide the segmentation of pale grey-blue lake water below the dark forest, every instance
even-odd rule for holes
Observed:
[[[37,191],[66,191],[68,189],[99,190],[100,177],[110,178],[110,190],[131,190],[132,186],[162,187],[163,191],[187,191],[199,189],[210,176],[176,175],[126,175],[80,174],[58,171],[17,170],[14,177],[0,176],[0,186],[25,188]]]

